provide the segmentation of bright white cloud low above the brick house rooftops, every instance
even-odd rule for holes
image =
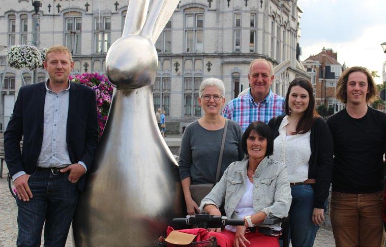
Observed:
[[[375,80],[376,83],[382,83],[382,66],[386,61],[386,54],[383,53],[380,44],[386,42],[384,30],[386,30],[386,24],[379,24],[368,27],[362,33],[355,33],[355,39],[351,41],[319,40],[312,45],[302,46],[301,60],[318,54],[323,47],[331,48],[338,53],[338,62],[341,64],[345,62],[348,67],[364,66],[369,70],[378,71],[380,78]]]

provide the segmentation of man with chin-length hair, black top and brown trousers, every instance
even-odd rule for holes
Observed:
[[[369,70],[344,70],[336,98],[346,109],[327,120],[334,139],[331,224],[337,246],[383,246],[383,154],[386,114],[368,104],[376,94]]]

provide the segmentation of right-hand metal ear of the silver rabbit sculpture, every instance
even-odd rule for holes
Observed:
[[[149,17],[143,26],[141,35],[149,37],[153,44],[156,43],[158,36],[166,23],[169,21],[173,14],[175,7],[179,3],[179,0],[157,0],[153,1]]]

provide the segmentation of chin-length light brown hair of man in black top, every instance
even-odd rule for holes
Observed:
[[[368,89],[369,92],[366,94],[366,102],[371,103],[375,99],[377,92],[373,76],[369,70],[365,67],[354,66],[346,68],[342,75],[339,77],[338,83],[336,85],[335,97],[340,100],[342,103],[347,103],[347,81],[348,76],[353,72],[362,72],[367,77]]]

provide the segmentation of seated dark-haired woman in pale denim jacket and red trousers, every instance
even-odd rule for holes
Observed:
[[[287,168],[268,156],[273,152],[271,129],[263,122],[251,123],[242,137],[247,156],[225,170],[221,180],[201,201],[200,210],[221,215],[224,203],[229,219],[244,219],[244,226],[210,229],[219,246],[279,246],[280,225],[270,226],[277,236],[259,232],[266,217],[285,218],[291,205]],[[260,228],[261,231],[262,228]]]

